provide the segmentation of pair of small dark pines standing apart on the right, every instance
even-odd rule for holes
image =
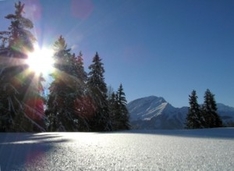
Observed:
[[[198,104],[196,91],[189,95],[189,111],[186,117],[186,128],[215,128],[222,127],[222,120],[217,113],[214,94],[209,89],[205,91],[204,103]]]

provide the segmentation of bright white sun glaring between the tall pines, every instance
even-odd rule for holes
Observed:
[[[53,71],[54,60],[53,50],[49,48],[34,47],[34,51],[28,54],[26,63],[29,65],[29,69],[36,74],[49,74]]]

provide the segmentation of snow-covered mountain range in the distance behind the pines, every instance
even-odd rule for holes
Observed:
[[[218,113],[225,124],[234,123],[234,108],[218,103]],[[149,96],[127,105],[133,129],[182,129],[188,107],[173,107],[162,97]]]

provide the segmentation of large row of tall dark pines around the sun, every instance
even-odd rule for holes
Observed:
[[[60,36],[55,41],[52,82],[42,95],[43,75],[25,63],[36,42],[33,23],[23,16],[24,4],[15,3],[7,31],[0,32],[0,131],[112,131],[130,129],[122,84],[108,96],[104,64],[93,57],[89,72],[82,53],[76,55]]]

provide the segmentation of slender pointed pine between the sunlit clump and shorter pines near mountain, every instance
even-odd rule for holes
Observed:
[[[94,113],[89,119],[92,131],[111,130],[111,121],[107,101],[107,86],[104,81],[104,68],[98,53],[89,66],[87,87],[94,106]]]

